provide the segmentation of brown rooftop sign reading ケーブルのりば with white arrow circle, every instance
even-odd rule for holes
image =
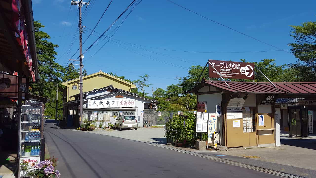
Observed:
[[[253,63],[223,60],[209,60],[209,62],[210,78],[220,78],[220,74],[227,79],[255,79]]]

